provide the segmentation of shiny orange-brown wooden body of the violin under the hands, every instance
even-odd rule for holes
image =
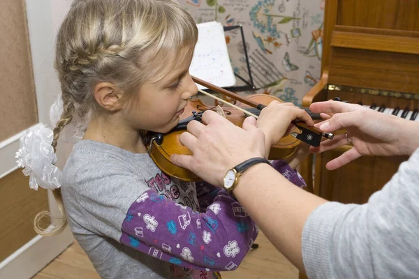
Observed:
[[[279,98],[266,94],[251,95],[248,99],[263,105],[268,105],[273,100],[279,100],[282,102]],[[240,103],[236,103],[236,105],[242,107],[243,109],[249,107],[248,105],[240,105]],[[243,112],[228,106],[222,106],[221,108],[226,115],[226,119],[235,124],[235,126],[242,127],[243,121],[247,117]],[[193,114],[193,112],[203,112],[205,110],[214,109],[214,106],[206,105],[200,99],[191,99],[189,100],[188,105],[186,105],[184,113],[180,116],[180,119],[182,120],[188,118]],[[196,174],[193,174],[193,172],[188,169],[178,167],[170,161],[170,156],[175,153],[192,155],[192,152],[183,146],[179,141],[179,137],[182,133],[184,133],[184,131],[185,130],[175,130],[164,135],[161,140],[156,140],[155,138],[154,140],[152,139],[151,144],[148,146],[149,155],[152,160],[154,160],[157,167],[159,167],[159,169],[166,174],[174,176],[182,181],[200,181],[200,178],[196,176]],[[272,146],[269,159],[276,160],[291,157],[297,150],[297,146],[299,144],[300,140],[297,140],[291,135],[283,137],[277,144]]]

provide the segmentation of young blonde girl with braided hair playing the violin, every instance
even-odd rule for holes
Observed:
[[[73,117],[90,121],[63,182],[46,163],[41,169],[51,172],[31,181],[56,188],[66,209],[53,229],[38,227],[38,215],[36,231],[56,234],[68,220],[102,278],[218,278],[237,269],[258,234],[225,190],[164,174],[143,142],[146,131],[176,126],[197,93],[189,75],[197,38],[193,18],[172,0],[76,0],[59,30],[64,109],[54,149]],[[286,163],[274,166],[304,185]]]

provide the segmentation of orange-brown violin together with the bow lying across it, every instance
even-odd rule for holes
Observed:
[[[279,102],[284,103],[279,98],[266,94],[254,94],[247,98],[242,98],[241,96],[237,97],[237,94],[233,92],[221,89],[213,84],[199,80],[196,77],[193,77],[193,80],[194,82],[206,86],[213,91],[219,93],[228,92],[227,94],[230,98],[235,98],[235,100],[239,99],[240,103],[237,103],[236,106],[240,107],[241,110],[235,107],[221,106],[221,110],[223,111],[226,119],[236,126],[242,127],[244,119],[247,118],[247,115],[244,114],[243,110],[258,116],[263,107],[269,105],[269,103],[273,100],[278,100]],[[156,163],[157,167],[159,167],[159,169],[166,174],[176,177],[182,181],[200,181],[200,178],[196,176],[196,174],[193,174],[193,172],[189,171],[189,169],[184,169],[183,167],[178,167],[173,164],[170,161],[170,156],[175,153],[192,155],[192,152],[180,143],[180,135],[184,133],[186,126],[190,121],[196,120],[202,122],[202,115],[206,110],[216,111],[219,109],[220,107],[217,108],[213,105],[207,105],[200,99],[191,99],[184,108],[184,112],[180,116],[181,120],[175,128],[172,128],[172,130],[166,134],[151,133],[148,135],[148,153],[152,160],[154,160],[154,163]],[[308,109],[306,109],[306,111],[313,120],[321,119],[320,114],[313,114]],[[268,159],[286,159],[293,156],[300,142],[307,142],[313,146],[318,146],[321,142],[321,137],[327,137],[329,139],[332,139],[333,137],[332,134],[321,133],[320,130],[317,130],[314,127],[309,127],[305,123],[296,122],[295,126],[297,126],[297,128],[293,131],[293,133],[283,137],[277,144],[274,144],[274,146],[271,147]]]

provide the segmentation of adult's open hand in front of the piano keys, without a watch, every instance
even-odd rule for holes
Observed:
[[[346,129],[348,135],[348,139],[345,134],[335,135],[333,140],[325,140],[317,148],[311,147],[311,152],[321,153],[353,144],[353,148],[331,160],[326,165],[328,169],[337,169],[363,155],[410,156],[419,147],[417,122],[338,101],[313,103],[310,110],[321,113],[325,119],[315,125],[323,132]]]

